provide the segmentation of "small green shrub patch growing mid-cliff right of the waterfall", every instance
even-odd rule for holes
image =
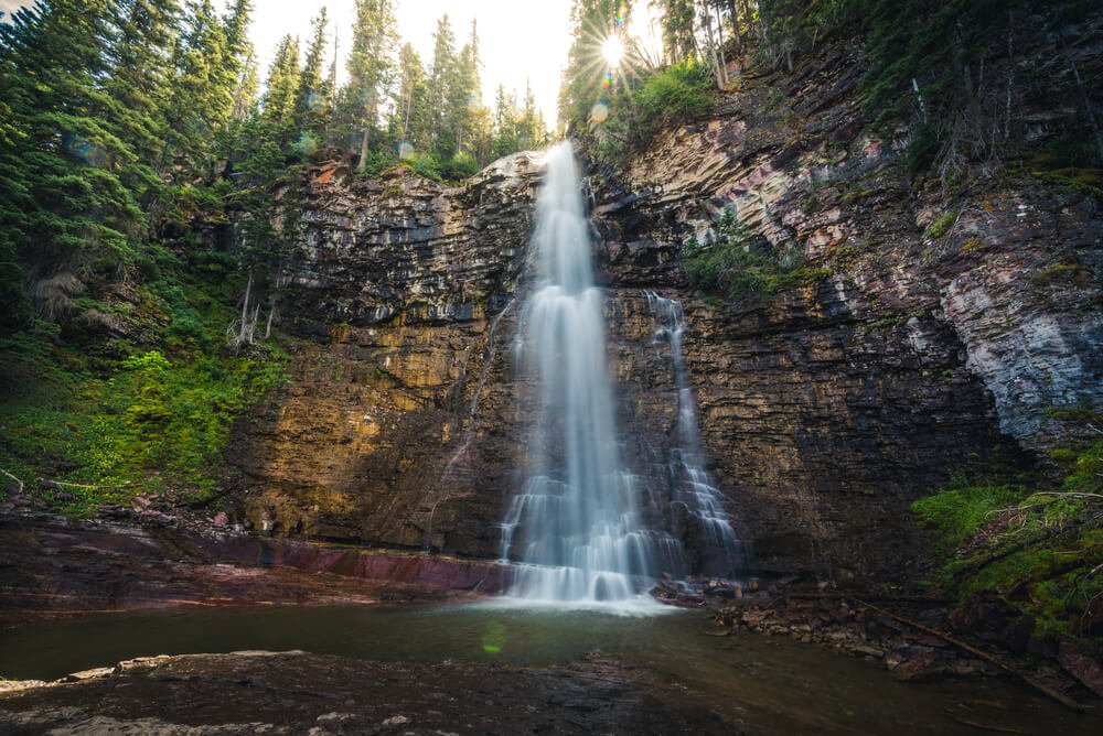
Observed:
[[[697,289],[732,300],[762,300],[821,275],[805,264],[799,247],[774,247],[730,210],[714,229],[711,242],[690,238],[682,248],[682,266]]]

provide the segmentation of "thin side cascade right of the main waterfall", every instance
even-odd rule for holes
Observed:
[[[647,292],[647,305],[655,318],[655,345],[666,344],[677,389],[676,436],[672,443],[670,477],[672,502],[683,509],[689,523],[689,537],[697,535],[706,548],[703,572],[731,575],[746,567],[747,554],[731,524],[731,515],[720,504],[721,494],[705,469],[697,424],[697,402],[689,386],[689,374],[682,350],[685,312],[682,303]]]

